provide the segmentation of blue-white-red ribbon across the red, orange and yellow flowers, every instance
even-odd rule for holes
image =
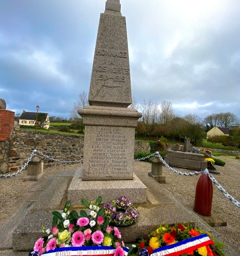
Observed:
[[[151,256],[178,256],[187,252],[194,251],[203,246],[207,246],[208,244],[213,244],[212,240],[207,234],[202,234],[200,236],[194,236],[175,244],[160,247],[154,250]]]

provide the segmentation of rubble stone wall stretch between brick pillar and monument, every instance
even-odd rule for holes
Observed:
[[[37,148],[43,154],[60,160],[80,160],[83,158],[84,138],[77,135],[66,135],[58,133],[35,132],[29,130],[14,129],[8,168],[16,171],[29,158],[32,150]],[[45,163],[56,164],[44,159]]]

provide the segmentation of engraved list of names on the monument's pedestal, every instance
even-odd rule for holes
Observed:
[[[94,138],[87,175],[129,175],[128,138],[120,127],[99,127]]]

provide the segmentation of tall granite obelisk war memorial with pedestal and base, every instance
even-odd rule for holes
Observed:
[[[142,114],[128,108],[132,103],[128,39],[119,0],[107,0],[100,14],[88,102],[90,106],[78,110],[85,125],[83,168],[70,184],[68,198],[80,204],[89,188],[95,192],[96,187],[102,187],[105,198],[113,198],[126,186],[126,196],[146,202],[146,187],[133,174],[135,127]]]

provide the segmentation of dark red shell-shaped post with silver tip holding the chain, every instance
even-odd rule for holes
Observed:
[[[194,211],[203,216],[211,216],[213,186],[208,177],[208,169],[205,169],[196,186]]]

